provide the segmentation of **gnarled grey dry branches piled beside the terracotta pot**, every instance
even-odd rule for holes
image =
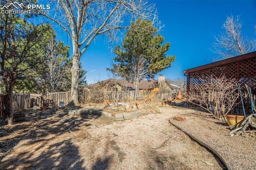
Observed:
[[[228,133],[230,136],[239,135],[256,137],[256,115],[251,114],[242,122],[241,126]]]

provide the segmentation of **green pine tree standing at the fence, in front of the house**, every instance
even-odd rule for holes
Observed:
[[[139,18],[131,22],[126,32],[122,47],[115,47],[115,63],[112,69],[128,81],[134,82],[135,90],[138,91],[140,81],[153,79],[154,75],[171,66],[175,55],[166,56],[170,42],[164,42],[164,37],[157,33],[150,20]]]

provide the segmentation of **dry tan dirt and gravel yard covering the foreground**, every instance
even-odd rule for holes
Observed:
[[[175,121],[174,116],[186,116]],[[0,120],[0,169],[221,170],[222,162],[186,132],[215,149],[232,170],[256,169],[252,136],[226,136],[226,123],[193,109],[160,107],[159,114],[113,121],[96,114],[44,115],[29,111],[26,121]]]

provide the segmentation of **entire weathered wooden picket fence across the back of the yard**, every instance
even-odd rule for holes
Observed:
[[[148,99],[151,101],[162,101],[165,99],[173,99],[177,96],[178,91],[138,91],[136,94],[137,99]],[[135,91],[116,91],[115,93],[111,93],[106,95],[106,100],[108,101],[118,101],[118,102],[132,102],[134,101]],[[65,105],[70,102],[71,93],[67,92],[57,92],[57,93],[48,93],[43,97],[36,97],[30,99],[30,93],[14,93],[13,94],[13,111],[14,114],[18,114],[26,109],[29,109],[33,106],[42,106],[42,99],[50,99],[56,103],[56,106],[59,106],[60,101],[63,101]],[[0,118],[6,117],[6,95],[0,95]],[[90,102],[90,101],[89,101]],[[84,104],[84,103],[81,103]]]

